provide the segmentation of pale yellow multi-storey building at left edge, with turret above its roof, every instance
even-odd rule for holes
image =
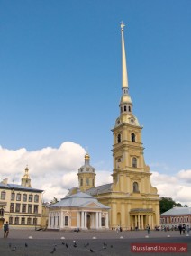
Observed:
[[[0,227],[8,221],[13,228],[41,226],[42,190],[31,187],[28,168],[22,185],[8,184],[7,178],[0,182]]]

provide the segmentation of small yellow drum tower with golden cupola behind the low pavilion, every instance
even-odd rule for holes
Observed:
[[[78,169],[78,183],[81,191],[96,187],[96,169],[90,165],[88,152],[85,155],[85,164]]]

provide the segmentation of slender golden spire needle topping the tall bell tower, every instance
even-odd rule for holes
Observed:
[[[123,28],[124,23],[121,23],[121,32],[122,32],[122,87],[128,88],[128,77],[127,77],[127,64],[126,64],[126,56],[125,56],[125,48],[124,48],[124,36],[123,36]]]

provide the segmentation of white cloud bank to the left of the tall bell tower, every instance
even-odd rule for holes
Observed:
[[[43,199],[50,201],[68,194],[78,186],[77,171],[84,164],[85,150],[74,142],[63,142],[58,149],[47,147],[38,151],[16,151],[0,147],[0,180],[21,184],[26,165],[32,187],[44,190]],[[96,185],[112,182],[111,173],[96,170]]]

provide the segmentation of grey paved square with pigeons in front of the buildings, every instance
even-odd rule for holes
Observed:
[[[107,232],[57,232],[34,230],[11,230],[7,239],[0,231],[0,255],[36,256],[36,255],[66,255],[66,256],[126,256],[148,255],[148,253],[131,252],[132,243],[186,243],[187,253],[176,253],[178,256],[191,255],[191,234],[181,235],[178,232],[132,231],[116,233]],[[74,247],[74,241],[77,247]],[[104,245],[104,242],[106,245]],[[26,245],[25,245],[26,244]],[[68,245],[68,247],[66,246]],[[55,250],[54,250],[55,248]],[[15,250],[14,250],[15,249]],[[90,251],[93,250],[92,251]],[[52,253],[51,253],[52,252]],[[153,255],[172,255],[172,253],[150,252]]]

